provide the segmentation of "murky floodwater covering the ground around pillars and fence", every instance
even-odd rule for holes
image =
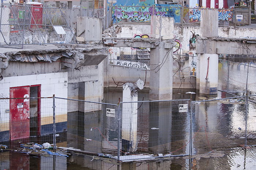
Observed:
[[[256,66],[253,59],[238,60],[240,63],[250,62],[251,66]],[[228,69],[229,67],[229,69]],[[256,92],[256,78],[253,76],[254,68],[249,68],[250,94]],[[229,79],[227,80],[227,76]],[[219,62],[219,90],[244,95],[246,88],[247,67],[243,65],[227,62]],[[228,85],[227,85],[228,83]],[[117,104],[118,98],[122,100],[122,88],[105,88],[104,103]],[[202,100],[204,98],[226,98],[231,95],[225,92],[218,92],[218,95],[208,96],[199,94],[191,89],[174,89],[173,99],[190,99],[190,94],[185,92],[194,91],[192,100]],[[202,98],[203,97],[203,98]],[[138,92],[139,101],[149,100],[149,89]],[[57,101],[58,102],[58,101]],[[135,150],[132,158],[136,154],[189,154],[189,112],[179,112],[180,104],[190,104],[189,101],[174,102],[145,102],[138,103],[136,109],[136,121],[122,117],[121,137],[125,138],[125,133],[129,127],[136,129],[132,134],[136,138],[132,144],[125,145],[127,140],[122,140],[121,155],[127,151]],[[75,107],[76,103],[69,103],[69,107]],[[98,107],[98,106],[91,106]],[[122,104],[120,111],[124,111],[130,106]],[[117,106],[102,105],[101,111],[91,112],[69,112],[67,120],[67,133],[60,133],[57,139],[57,146],[73,147],[90,153],[105,153],[117,155],[117,128],[118,117],[106,116],[106,108],[118,110]],[[15,151],[0,153],[0,169],[255,169],[256,167],[256,147],[251,146],[244,149],[245,142],[245,102],[243,98],[239,100],[218,100],[212,102],[196,102],[192,104],[192,153],[198,155],[191,159],[184,157],[157,158],[154,161],[137,161],[130,163],[118,163],[116,161],[74,153],[72,151],[59,151],[69,157],[52,155],[27,155]],[[248,105],[248,145],[256,145],[256,104]],[[72,108],[68,108],[72,110]],[[189,108],[190,109],[190,108]],[[116,112],[117,114],[117,112]],[[207,132],[207,133],[206,133]],[[46,137],[52,143],[52,138]],[[30,139],[30,141],[33,139]],[[36,140],[36,139],[34,139]],[[42,139],[40,141],[43,141]],[[129,142],[129,141],[128,141]],[[18,146],[16,144],[4,143],[6,145]],[[135,147],[133,147],[135,146]],[[217,153],[215,157],[209,157],[205,153]],[[218,155],[222,151],[224,156]],[[200,155],[203,154],[203,155]],[[129,154],[128,154],[129,155]]]

